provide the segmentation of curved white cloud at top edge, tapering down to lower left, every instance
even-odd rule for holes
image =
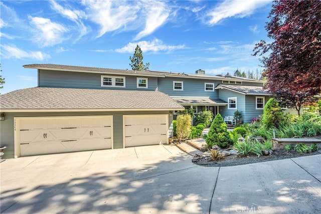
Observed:
[[[148,4],[147,4],[148,3]],[[164,2],[144,2],[145,13],[147,13],[145,28],[138,33],[134,40],[139,40],[166,23],[170,15],[170,9]]]

